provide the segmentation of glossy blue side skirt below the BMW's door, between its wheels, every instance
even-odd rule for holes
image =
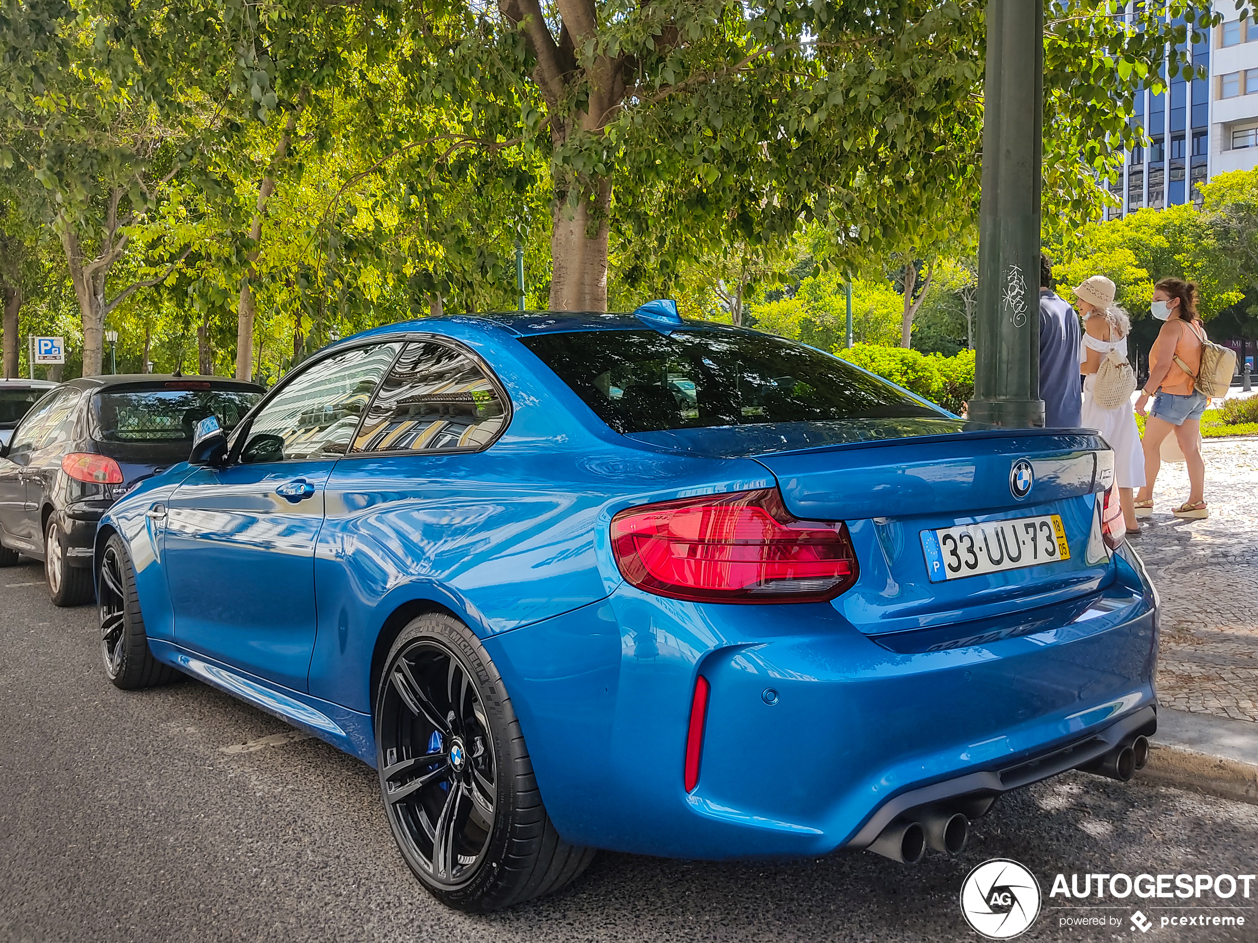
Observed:
[[[169,641],[150,639],[148,648],[159,661],[253,704],[375,768],[376,742],[370,714],[244,674]]]

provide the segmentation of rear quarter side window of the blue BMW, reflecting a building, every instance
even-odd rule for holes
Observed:
[[[411,342],[367,407],[355,453],[483,449],[506,424],[502,394],[465,353]]]

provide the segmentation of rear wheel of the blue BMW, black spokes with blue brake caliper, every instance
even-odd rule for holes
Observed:
[[[548,894],[594,858],[555,831],[502,678],[450,616],[420,616],[394,642],[376,694],[376,759],[403,858],[450,907],[498,910]]]

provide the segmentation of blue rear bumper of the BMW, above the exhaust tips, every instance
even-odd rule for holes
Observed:
[[[863,847],[903,808],[999,795],[1155,725],[1156,596],[1133,553],[1116,571],[1068,624],[941,651],[891,651],[829,605],[694,605],[624,586],[486,644],[567,840],[818,855]],[[687,793],[698,674],[711,697]]]

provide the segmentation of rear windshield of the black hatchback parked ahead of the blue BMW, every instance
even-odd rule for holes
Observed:
[[[107,443],[190,443],[196,424],[216,416],[233,429],[260,392],[249,390],[106,391],[93,397],[97,439]]]

